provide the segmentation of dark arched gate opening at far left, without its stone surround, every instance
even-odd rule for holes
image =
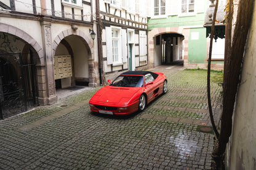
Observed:
[[[1,119],[38,106],[34,48],[19,37],[0,32]]]

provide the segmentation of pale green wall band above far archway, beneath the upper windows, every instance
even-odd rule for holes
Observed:
[[[194,26],[204,25],[204,13],[199,13],[196,16],[178,17],[178,15],[171,15],[167,18],[148,19],[148,30],[153,28],[167,28],[176,26]]]

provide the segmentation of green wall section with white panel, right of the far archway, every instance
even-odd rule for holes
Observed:
[[[188,63],[207,63],[206,28],[190,28]]]

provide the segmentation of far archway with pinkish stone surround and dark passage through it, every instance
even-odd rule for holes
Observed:
[[[170,64],[186,59],[189,33],[182,27],[154,28],[148,32],[149,66]]]

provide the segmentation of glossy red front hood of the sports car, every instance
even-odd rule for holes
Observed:
[[[140,87],[113,87],[106,86],[101,88],[90,99],[94,104],[129,104],[130,99],[140,90]]]

